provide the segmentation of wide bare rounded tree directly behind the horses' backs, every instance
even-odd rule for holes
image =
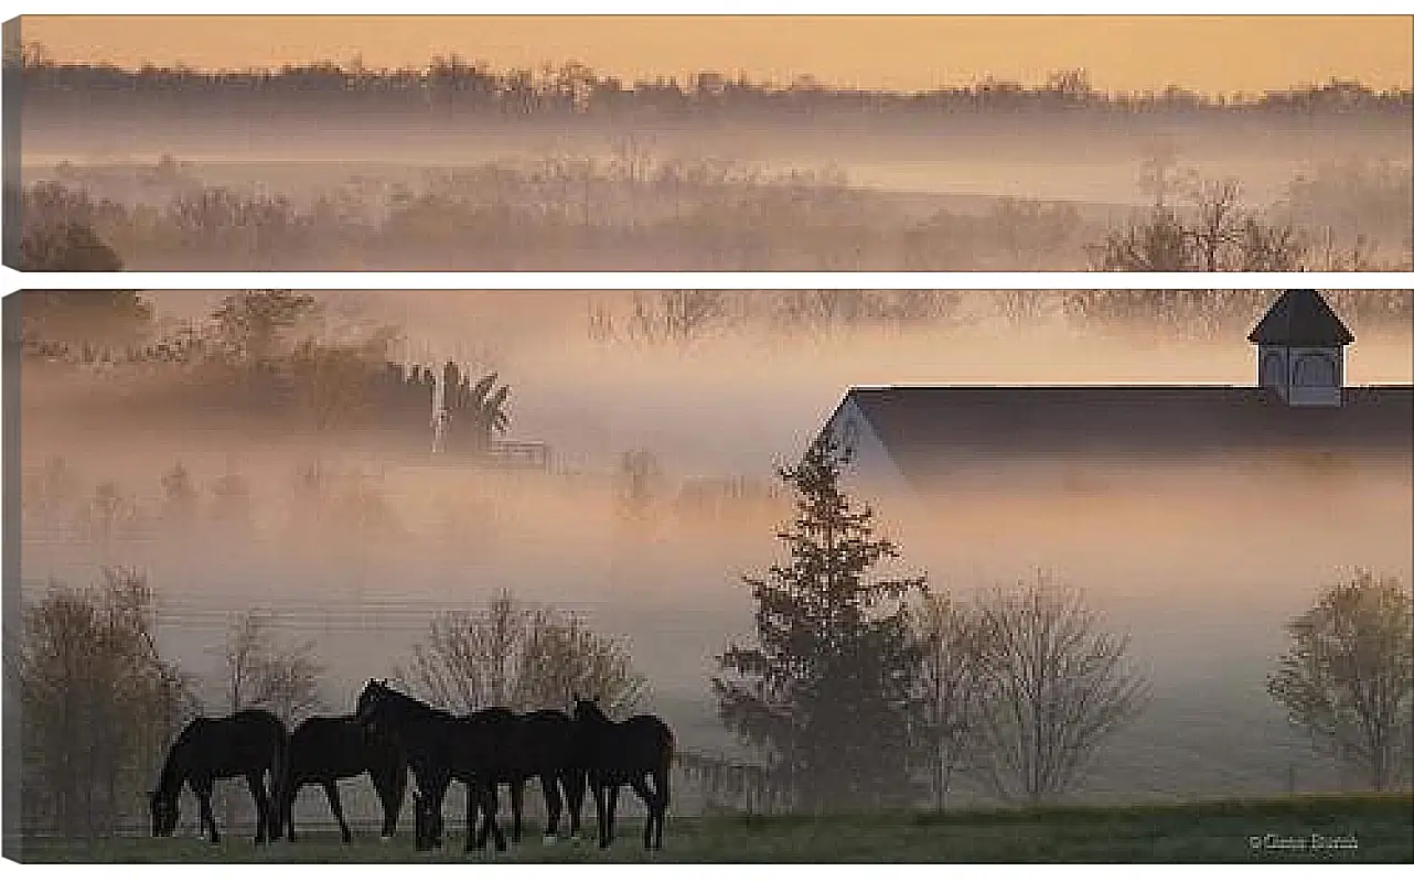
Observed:
[[[594,633],[578,616],[525,608],[509,591],[478,612],[438,613],[397,677],[428,701],[461,712],[563,708],[578,693],[598,695],[605,710],[622,714],[648,688],[618,640]]]

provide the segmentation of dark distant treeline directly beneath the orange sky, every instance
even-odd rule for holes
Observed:
[[[342,106],[395,102],[423,109],[454,109],[493,116],[591,114],[754,117],[779,113],[868,113],[929,116],[990,110],[1102,112],[1117,114],[1266,113],[1266,114],[1407,114],[1414,90],[1374,89],[1357,81],[1332,78],[1260,93],[1205,95],[1179,85],[1158,90],[1106,92],[1096,89],[1085,69],[1051,72],[1041,83],[978,79],[971,85],[916,92],[830,86],[800,75],[790,83],[752,82],[703,71],[687,82],[659,76],[625,82],[567,61],[537,68],[496,71],[479,61],[436,55],[419,68],[372,69],[361,62],[288,64],[279,69],[197,71],[144,64],[123,69],[102,64],[59,64],[37,42],[7,54],[31,99],[62,100],[66,93],[124,95],[124,100],[161,100],[197,93],[205,100],[331,99]]]

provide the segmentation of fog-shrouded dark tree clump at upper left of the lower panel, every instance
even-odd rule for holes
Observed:
[[[74,229],[74,228],[71,228]],[[431,444],[437,390],[452,449],[484,454],[509,430],[510,387],[496,373],[474,377],[445,362],[392,360],[396,329],[338,339],[321,327],[308,294],[247,290],[229,294],[202,321],[160,329],[136,291],[24,291],[18,295],[21,353],[35,366],[90,368],[167,380],[147,401],[245,416],[287,414],[317,431],[378,428]],[[171,380],[185,380],[174,389]],[[139,410],[144,403],[136,403]]]

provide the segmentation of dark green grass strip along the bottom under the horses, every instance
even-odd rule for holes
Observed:
[[[588,841],[544,845],[533,823],[520,845],[486,857],[462,852],[464,830],[419,854],[407,833],[389,842],[355,831],[311,833],[255,847],[245,830],[219,845],[192,838],[98,844],[28,841],[23,862],[574,862],[643,861],[639,818],[621,821],[601,852]],[[1314,835],[1316,838],[1314,838]],[[1342,847],[1343,845],[1343,847]],[[669,817],[653,862],[1414,862],[1414,796],[1329,796],[1181,806],[969,811],[949,816]]]

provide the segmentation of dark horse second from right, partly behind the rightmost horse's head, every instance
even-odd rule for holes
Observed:
[[[580,835],[580,813],[584,806],[584,768],[578,762],[574,721],[564,711],[544,710],[510,715],[513,736],[505,773],[498,784],[510,787],[510,840],[520,841],[520,818],[525,784],[540,779],[546,804],[544,841],[560,834],[560,813],[570,810],[570,835]],[[561,799],[563,793],[563,799]]]

